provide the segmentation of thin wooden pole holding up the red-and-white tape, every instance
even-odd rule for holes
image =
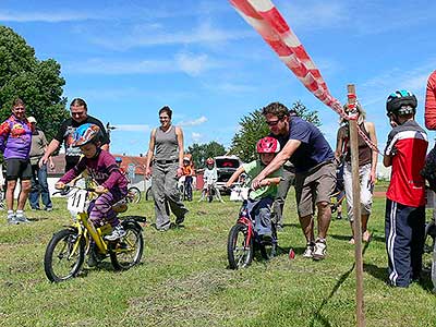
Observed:
[[[356,117],[355,109],[355,86],[347,86],[348,105],[350,114]],[[355,317],[356,326],[365,326],[365,314],[363,303],[363,256],[362,256],[362,219],[361,219],[361,185],[359,178],[359,136],[358,121],[350,119],[350,149],[351,149],[351,172],[353,186],[353,217],[354,217],[354,256],[355,256]]]

